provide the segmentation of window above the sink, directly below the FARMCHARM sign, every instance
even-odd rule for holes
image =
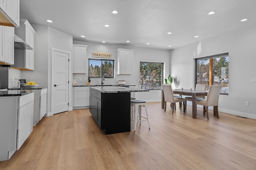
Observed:
[[[114,78],[114,60],[89,59],[90,78]]]

